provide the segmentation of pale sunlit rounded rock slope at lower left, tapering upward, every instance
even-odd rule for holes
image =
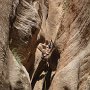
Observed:
[[[25,67],[17,62],[10,50],[8,53],[10,90],[31,90],[29,74]]]

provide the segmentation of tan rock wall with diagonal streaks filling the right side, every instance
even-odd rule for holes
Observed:
[[[61,54],[50,90],[89,90],[90,1],[60,3],[55,44]]]

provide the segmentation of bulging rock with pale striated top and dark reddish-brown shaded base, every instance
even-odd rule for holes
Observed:
[[[11,14],[10,49],[32,73],[40,18],[31,1],[15,0]],[[13,21],[13,22],[12,22]]]

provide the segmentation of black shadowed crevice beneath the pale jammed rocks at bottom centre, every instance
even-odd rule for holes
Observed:
[[[59,59],[60,59],[60,53],[55,48],[55,50],[52,52],[49,58],[49,66],[47,65],[45,61],[41,60],[31,82],[32,88],[34,88],[37,81],[43,79],[42,90],[49,89],[50,84],[54,77],[54,75],[52,75],[52,72],[56,70]],[[43,71],[45,72],[45,74],[41,75]]]

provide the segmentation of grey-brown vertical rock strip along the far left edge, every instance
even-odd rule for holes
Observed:
[[[11,0],[0,0],[0,90],[10,90],[8,80],[8,36]]]

